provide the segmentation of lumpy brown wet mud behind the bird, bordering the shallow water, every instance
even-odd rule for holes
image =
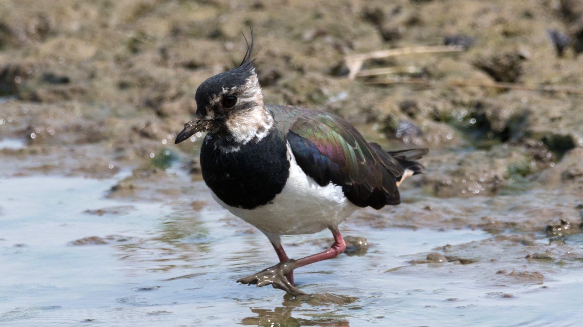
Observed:
[[[250,23],[266,102],[336,113],[386,148],[431,150],[426,173],[403,184],[402,205],[363,209],[351,226],[488,233],[420,253],[398,273],[475,265],[483,283],[545,286],[583,268],[573,241],[583,219],[583,95],[451,86],[581,88],[576,0],[2,1],[0,177],[127,172],[106,197],[205,208],[192,187],[201,136],[173,139],[196,111],[196,87],[241,60]],[[346,55],[444,44],[465,50],[364,65],[414,67],[379,78],[430,86],[346,77]],[[221,223],[256,233],[232,216]],[[117,241],[86,237],[66,241]]]

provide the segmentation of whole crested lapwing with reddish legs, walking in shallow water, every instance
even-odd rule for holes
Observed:
[[[278,264],[237,282],[301,296],[307,293],[296,287],[294,269],[343,253],[339,224],[358,208],[398,205],[398,187],[423,172],[416,160],[429,150],[385,151],[332,113],[265,104],[252,27],[250,38],[240,65],[199,85],[194,119],[175,144],[206,131],[200,165],[210,194],[264,233],[278,255]],[[287,256],[282,235],[325,229],[334,237],[328,250],[297,260]]]

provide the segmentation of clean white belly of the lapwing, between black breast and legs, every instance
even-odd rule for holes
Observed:
[[[231,214],[257,227],[262,232],[291,235],[312,234],[326,228],[335,228],[358,207],[348,201],[342,187],[335,184],[319,186],[305,175],[291,154],[290,175],[282,192],[269,204],[254,209],[231,207],[221,201],[213,191],[213,198]]]

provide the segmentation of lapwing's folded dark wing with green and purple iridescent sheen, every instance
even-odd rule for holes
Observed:
[[[293,108],[287,141],[301,169],[320,186],[333,183],[359,207],[399,204],[396,181],[403,168],[377,144],[369,144],[342,118]]]

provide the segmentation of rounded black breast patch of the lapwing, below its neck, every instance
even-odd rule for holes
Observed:
[[[207,135],[201,148],[202,177],[207,186],[231,207],[252,209],[268,204],[289,176],[286,141],[273,129],[260,141],[240,145],[238,151],[220,150],[220,138]]]

